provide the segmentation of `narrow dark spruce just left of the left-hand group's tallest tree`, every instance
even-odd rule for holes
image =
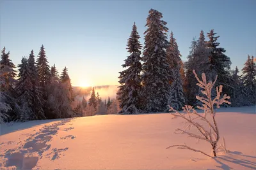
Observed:
[[[44,110],[43,110],[44,99],[42,97],[42,91],[40,90],[40,86],[38,83],[38,73],[35,66],[35,55],[33,50],[31,50],[31,53],[29,55],[28,68],[31,76],[31,83],[33,85],[32,110],[33,110],[33,113],[35,113],[36,119],[44,119],[45,118]]]

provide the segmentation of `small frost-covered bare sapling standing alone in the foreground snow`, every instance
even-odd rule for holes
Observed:
[[[220,105],[223,103],[230,104],[230,102],[227,101],[227,99],[230,99],[230,97],[227,96],[227,94],[224,94],[224,96],[221,97],[222,85],[220,85],[220,87],[216,87],[217,96],[212,100],[211,91],[212,91],[212,88],[214,87],[214,84],[216,83],[217,76],[213,83],[212,81],[209,81],[209,83],[207,83],[206,76],[204,73],[202,74],[202,81],[198,78],[197,74],[195,73],[195,70],[193,71],[193,73],[195,74],[196,80],[198,81],[196,85],[202,88],[201,92],[202,94],[205,95],[203,97],[196,96],[196,99],[204,103],[202,104],[202,106],[198,106],[198,109],[204,110],[204,114],[197,113],[197,111],[194,110],[192,106],[188,106],[188,105],[182,108],[184,113],[179,113],[179,111],[174,110],[172,107],[169,106],[170,111],[175,111],[175,113],[172,113],[173,118],[177,118],[177,117],[183,118],[185,120],[185,124],[188,124],[184,129],[179,129],[179,128],[176,129],[177,133],[187,134],[191,138],[196,138],[198,140],[201,139],[209,142],[212,146],[212,153],[214,157],[216,157],[216,150],[218,150],[217,143],[220,139],[220,132],[215,119],[216,110],[214,110],[214,106],[216,106],[217,108],[220,108]],[[201,120],[201,121],[197,122],[197,120]],[[198,134],[189,132],[191,127],[195,127],[197,129]],[[224,141],[225,139],[223,138],[223,142]],[[168,148],[172,148],[172,147],[177,147],[179,149],[193,150],[195,152],[200,152],[200,153],[203,153],[204,155],[211,157],[207,153],[202,152],[200,150],[195,150],[194,148],[191,148],[186,144],[172,145],[172,146],[169,146]],[[224,145],[221,145],[220,148],[222,148],[223,150],[226,150],[225,143]]]

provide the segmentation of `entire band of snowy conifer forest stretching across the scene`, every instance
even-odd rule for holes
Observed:
[[[119,72],[116,99],[108,101],[102,101],[94,88],[88,101],[76,101],[67,67],[59,73],[55,64],[50,66],[44,45],[37,58],[31,50],[29,57],[22,57],[17,66],[4,47],[0,62],[0,122],[168,112],[168,106],[182,110],[186,104],[197,108],[202,105],[196,100],[202,89],[196,85],[194,70],[198,75],[205,73],[210,81],[218,75],[215,86],[223,85],[223,94],[230,96],[231,102],[223,106],[256,104],[256,64],[252,55],[244,60],[241,71],[237,67],[230,69],[230,57],[225,55],[225,48],[218,43],[220,36],[212,29],[207,34],[198,31],[199,38],[192,39],[187,60],[182,61],[174,34],[168,33],[162,18],[161,12],[149,11],[144,46],[136,24],[132,25],[127,41],[129,56],[123,56],[124,70]],[[212,96],[216,96],[214,89]]]

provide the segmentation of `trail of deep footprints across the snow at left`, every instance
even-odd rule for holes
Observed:
[[[61,122],[45,125],[38,132],[31,134],[28,139],[24,142],[17,143],[18,147],[5,150],[3,155],[0,155],[1,161],[0,169],[32,169],[36,166],[39,159],[42,158],[43,153],[51,148],[47,142],[51,141],[52,136],[58,133],[60,128],[58,126],[64,125],[70,120],[61,120]],[[66,128],[67,131],[72,128]],[[27,135],[27,134],[26,134]],[[74,136],[66,136],[66,138],[76,138]],[[0,145],[9,145],[15,141],[8,141],[7,143],[1,143]],[[60,155],[65,152],[68,148],[64,149],[52,149],[52,160],[58,159]]]

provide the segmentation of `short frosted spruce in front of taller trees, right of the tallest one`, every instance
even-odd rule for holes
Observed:
[[[169,105],[172,106],[175,110],[181,110],[185,105],[184,92],[182,88],[182,80],[180,78],[180,68],[179,64],[174,69],[174,80],[170,89],[170,99],[168,101]]]

